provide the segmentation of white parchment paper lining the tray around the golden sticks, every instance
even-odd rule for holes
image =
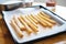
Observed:
[[[48,29],[48,28],[45,29],[45,28],[42,28],[42,26],[38,25],[37,34],[32,33],[31,35],[28,35],[26,33],[23,33],[24,34],[23,38],[19,38],[16,36],[14,30],[12,29],[12,26],[9,24],[10,20],[12,19],[13,14],[16,14],[16,15],[24,14],[24,13],[28,14],[30,11],[35,13],[35,11],[38,11],[38,9],[35,9],[35,8],[31,8],[29,10],[28,9],[19,9],[19,10],[15,10],[15,11],[3,12],[4,13],[4,20],[6,20],[6,23],[7,23],[8,28],[9,28],[9,31],[11,32],[13,38],[18,43],[23,43],[23,42],[36,40],[36,38],[40,38],[40,37],[45,37],[45,36],[53,35],[53,34],[56,34],[58,32],[62,32],[62,31],[66,30],[65,21],[57,18],[56,15],[53,15],[51,12],[48,12],[46,10],[43,10],[45,13],[48,13],[51,16],[55,18],[56,21],[62,22],[64,24],[62,24],[61,26],[58,26],[58,25],[53,26],[52,29]]]

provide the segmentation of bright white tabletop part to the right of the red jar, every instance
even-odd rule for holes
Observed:
[[[66,7],[56,6],[55,13],[66,20]]]

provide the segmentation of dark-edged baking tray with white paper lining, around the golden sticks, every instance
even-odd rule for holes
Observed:
[[[45,12],[46,14],[51,15],[56,22],[59,23],[58,26],[54,26],[53,29],[46,29],[44,31],[40,31],[37,33],[37,35],[31,35],[31,36],[24,36],[23,38],[19,38],[13,29],[11,28],[11,25],[9,24],[11,18],[13,14],[28,14],[28,13],[32,13],[32,12],[36,12],[36,11],[43,11]],[[13,37],[13,40],[18,43],[25,43],[25,42],[31,42],[31,41],[34,41],[34,40],[37,40],[37,38],[42,38],[42,37],[46,37],[46,36],[51,36],[51,35],[54,35],[54,34],[57,34],[57,33],[61,33],[61,32],[65,32],[66,31],[66,22],[64,19],[62,19],[61,16],[58,16],[57,14],[55,14],[54,12],[50,11],[48,9],[42,7],[42,6],[34,6],[34,7],[31,7],[31,8],[19,8],[19,9],[15,9],[15,10],[11,10],[11,11],[2,11],[3,13],[3,19],[7,23],[7,26]],[[42,30],[42,28],[40,28]]]

